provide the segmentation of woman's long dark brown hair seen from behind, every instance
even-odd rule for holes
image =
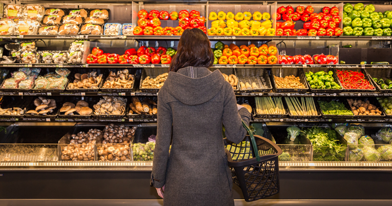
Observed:
[[[170,64],[170,71],[177,72],[185,67],[211,67],[214,54],[210,48],[210,40],[198,28],[185,29],[178,42],[177,54]]]

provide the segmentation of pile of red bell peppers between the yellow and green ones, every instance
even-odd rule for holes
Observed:
[[[342,18],[337,7],[324,7],[320,13],[315,13],[312,6],[281,6],[277,9],[277,36],[340,36],[343,30],[339,28]],[[294,29],[295,22],[302,20],[303,29]]]

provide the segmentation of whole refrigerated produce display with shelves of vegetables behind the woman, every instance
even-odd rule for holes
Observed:
[[[283,151],[271,199],[389,199],[391,11],[387,1],[4,1],[0,204],[157,199],[157,95],[193,28],[252,132]]]

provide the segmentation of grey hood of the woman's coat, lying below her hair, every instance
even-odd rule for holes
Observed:
[[[177,72],[169,72],[164,81],[168,92],[185,105],[201,105],[218,94],[225,83],[219,70],[201,78],[191,78]]]

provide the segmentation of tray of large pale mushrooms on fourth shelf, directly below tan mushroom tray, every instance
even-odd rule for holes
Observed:
[[[93,106],[93,116],[101,117],[122,117],[125,115],[127,99],[117,96],[103,96],[97,104]]]

